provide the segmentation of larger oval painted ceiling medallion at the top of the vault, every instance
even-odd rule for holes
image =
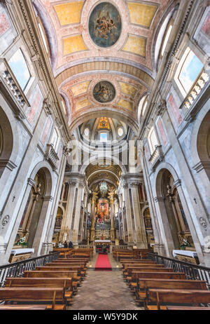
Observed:
[[[102,2],[90,15],[89,32],[92,41],[103,48],[113,46],[122,31],[120,14],[113,4]]]

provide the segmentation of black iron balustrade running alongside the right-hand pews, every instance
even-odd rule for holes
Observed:
[[[148,253],[148,258],[157,262],[157,264],[163,264],[166,268],[172,268],[174,272],[185,273],[186,279],[188,280],[206,281],[207,288],[210,290],[210,268],[179,261],[177,259],[170,259],[169,257],[162,257],[154,253]]]

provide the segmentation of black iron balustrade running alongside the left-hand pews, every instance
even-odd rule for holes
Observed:
[[[6,278],[22,277],[24,271],[31,271],[36,266],[45,266],[59,258],[59,252],[50,253],[49,255],[42,255],[41,257],[34,257],[25,261],[15,262],[0,266],[0,288],[3,288],[6,283]]]

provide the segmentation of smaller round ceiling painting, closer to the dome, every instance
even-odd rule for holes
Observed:
[[[94,99],[98,102],[111,102],[116,97],[116,89],[108,81],[100,81],[93,90]]]

